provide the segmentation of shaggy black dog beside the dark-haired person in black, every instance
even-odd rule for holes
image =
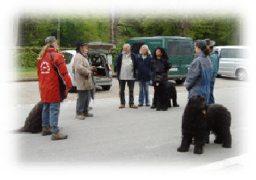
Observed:
[[[166,77],[160,75],[155,76],[154,78],[154,87],[155,87],[155,107],[157,111],[163,110],[166,111],[168,107],[172,105],[178,107],[177,104],[177,91],[174,83],[167,80]]]

